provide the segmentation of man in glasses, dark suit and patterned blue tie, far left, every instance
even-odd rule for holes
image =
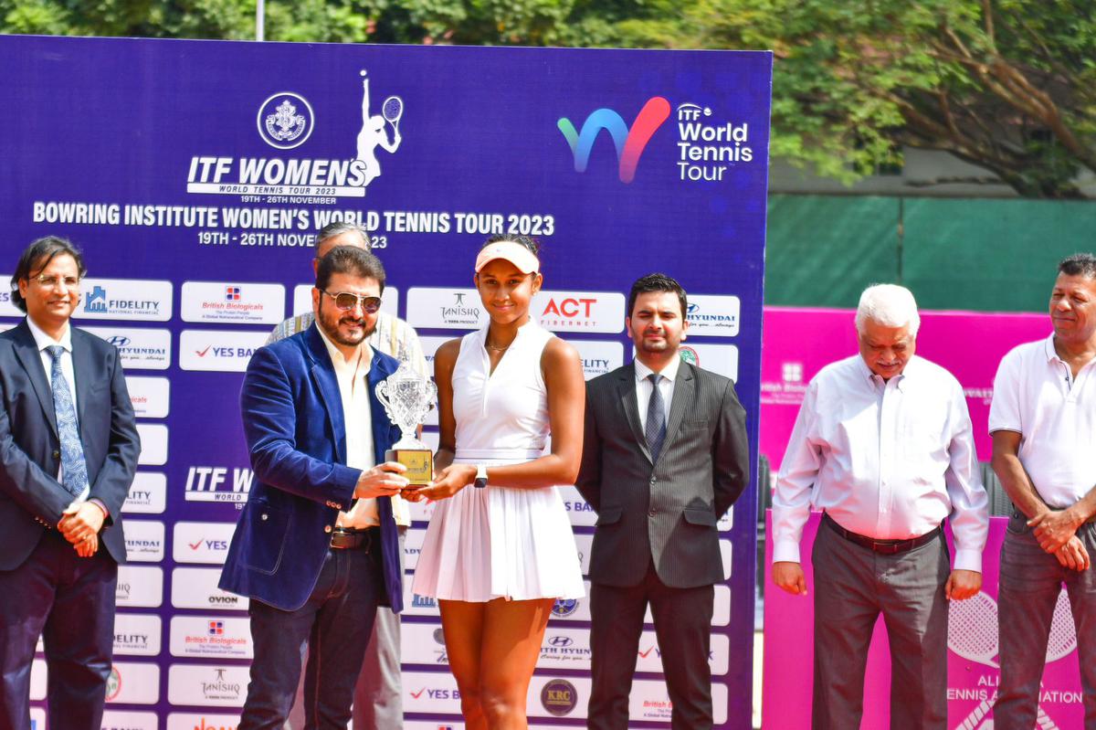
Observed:
[[[99,730],[126,559],[122,503],[140,442],[118,351],[69,326],[83,258],[31,243],[11,278],[26,319],[0,333],[0,727],[30,730],[42,636],[49,727]]]

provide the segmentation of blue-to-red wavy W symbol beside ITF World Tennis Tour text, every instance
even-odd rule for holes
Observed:
[[[630,128],[625,124],[624,117],[612,109],[594,111],[582,123],[581,132],[575,129],[574,124],[566,116],[561,117],[556,126],[571,146],[575,172],[586,171],[594,141],[602,129],[608,132],[616,146],[617,174],[620,182],[630,183],[636,179],[636,168],[639,167],[639,158],[643,155],[647,142],[669,117],[670,102],[662,96],[651,96],[636,115]]]

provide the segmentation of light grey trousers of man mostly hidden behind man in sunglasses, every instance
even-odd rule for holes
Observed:
[[[400,567],[407,527],[400,527]],[[400,666],[400,617],[378,607],[373,635],[354,686],[354,730],[402,730],[403,692]],[[286,730],[305,730],[304,680],[286,721]]]

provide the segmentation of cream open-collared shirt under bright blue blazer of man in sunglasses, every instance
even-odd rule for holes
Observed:
[[[373,455],[373,420],[369,404],[369,364],[373,350],[364,342],[357,350],[357,357],[346,362],[342,352],[328,339],[322,328],[316,330],[323,338],[331,364],[335,368],[339,396],[343,406],[343,423],[346,434],[346,466],[355,469],[372,469],[376,466]],[[347,512],[340,512],[335,523],[340,527],[373,527],[380,524],[376,498],[359,499]]]

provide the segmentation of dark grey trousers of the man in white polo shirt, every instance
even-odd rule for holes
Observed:
[[[1077,537],[1096,560],[1096,525]],[[1014,513],[1001,546],[997,626],[1001,686],[993,707],[996,730],[1031,730],[1039,711],[1039,685],[1047,661],[1051,619],[1062,583],[1077,631],[1085,730],[1096,730],[1096,568],[1077,572],[1039,547],[1027,518]]]

